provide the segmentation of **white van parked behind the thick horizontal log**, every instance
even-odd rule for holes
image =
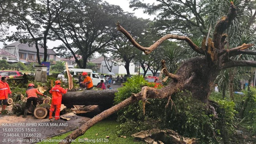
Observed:
[[[67,79],[65,79],[65,76],[64,76],[65,72],[66,70],[62,71],[58,75],[58,78],[61,78],[64,82],[67,81]],[[90,76],[91,80],[93,81],[93,86],[97,86],[97,84],[100,83],[101,80],[105,82],[105,79],[101,78],[101,76],[98,73],[94,73],[91,69],[70,68],[69,72],[74,78],[74,80],[77,80],[77,81],[78,81],[78,73],[81,73],[82,75],[83,72],[87,72],[88,76]]]

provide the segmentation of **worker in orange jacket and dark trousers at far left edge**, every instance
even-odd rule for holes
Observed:
[[[9,84],[7,83],[7,77],[3,76],[1,77],[1,81],[0,81],[0,105],[3,100],[2,110],[5,110],[7,106],[8,94],[10,94],[10,97],[12,96],[12,92],[10,90]]]

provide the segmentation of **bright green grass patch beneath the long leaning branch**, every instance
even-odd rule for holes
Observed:
[[[118,137],[117,126],[120,123],[116,120],[103,120],[98,122],[94,126],[84,133],[83,136],[80,136],[76,139],[77,144],[146,144],[143,141],[136,140],[129,135],[125,135],[126,138]],[[60,136],[51,137],[51,140],[62,140],[71,132],[65,133]],[[109,139],[106,139],[106,136],[109,136]],[[87,139],[87,141],[85,141]],[[89,142],[90,141],[90,142]],[[58,144],[59,142],[40,142],[39,144]]]

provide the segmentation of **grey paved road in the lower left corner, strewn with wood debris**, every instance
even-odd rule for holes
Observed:
[[[57,136],[75,130],[90,118],[68,113],[61,115],[71,120],[37,119],[31,115],[27,118],[16,115],[0,115],[1,144],[32,144],[48,137]]]

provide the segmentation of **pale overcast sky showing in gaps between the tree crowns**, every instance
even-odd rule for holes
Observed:
[[[107,1],[109,4],[119,5],[124,11],[132,12],[138,18],[151,19],[151,20],[154,19],[154,16],[144,14],[142,9],[133,11],[132,8],[129,8],[129,1],[130,0],[103,0],[103,1]],[[155,2],[155,0],[147,0],[147,3],[153,3],[153,2]],[[15,27],[12,27],[11,30],[15,31]],[[6,43],[11,44],[11,43],[14,43],[14,42],[6,42]],[[52,49],[54,46],[59,46],[61,44],[62,44],[61,41],[47,41],[46,45],[48,46],[48,49]],[[3,43],[0,42],[0,48],[1,49],[3,48],[3,46],[4,46]]]

